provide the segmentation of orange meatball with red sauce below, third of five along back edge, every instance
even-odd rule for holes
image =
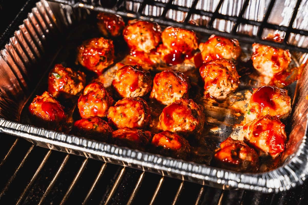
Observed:
[[[190,54],[198,48],[198,39],[194,31],[169,26],[161,34],[166,49],[173,53]]]

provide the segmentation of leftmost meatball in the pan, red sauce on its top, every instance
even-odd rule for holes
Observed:
[[[42,95],[37,95],[29,106],[29,112],[35,124],[59,131],[66,121],[63,109],[64,107],[59,101],[55,100],[47,91]]]

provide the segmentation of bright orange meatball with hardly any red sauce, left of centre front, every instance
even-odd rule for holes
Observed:
[[[144,99],[127,97],[108,110],[108,122],[116,128],[144,128],[150,121],[151,110]]]

